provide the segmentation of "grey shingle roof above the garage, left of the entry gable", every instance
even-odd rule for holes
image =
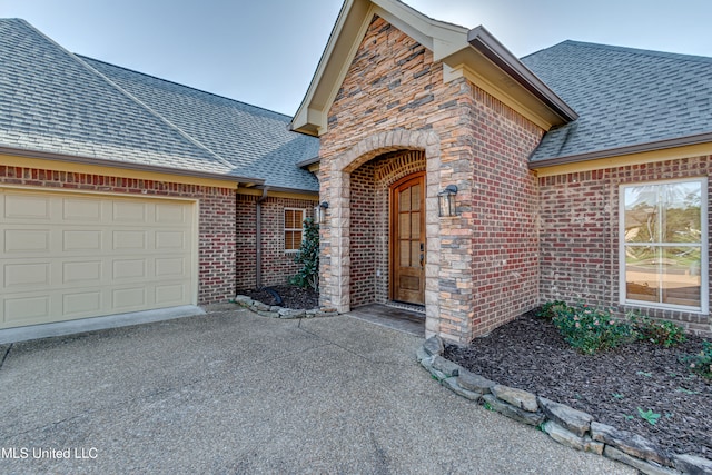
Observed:
[[[72,55],[0,20],[0,146],[265,179],[317,191],[295,164],[318,139],[287,116]]]

